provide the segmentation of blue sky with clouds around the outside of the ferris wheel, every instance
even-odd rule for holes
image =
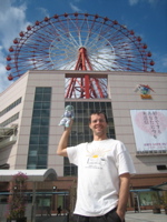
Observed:
[[[0,93],[12,83],[6,58],[13,39],[37,20],[65,12],[117,20],[148,46],[157,74],[167,72],[167,0],[0,0]]]

